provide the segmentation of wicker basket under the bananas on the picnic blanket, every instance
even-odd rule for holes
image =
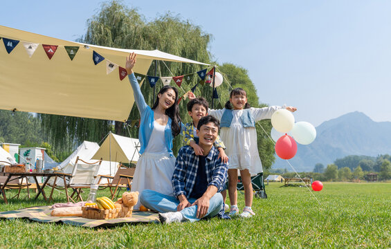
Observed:
[[[98,205],[89,205],[82,207],[82,217],[87,219],[116,219],[131,217],[133,207],[128,208],[122,205],[122,208],[113,208],[111,210],[102,210]]]

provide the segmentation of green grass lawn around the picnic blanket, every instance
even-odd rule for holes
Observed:
[[[322,205],[305,187],[281,185],[266,186],[268,199],[254,199],[257,215],[252,219],[107,229],[3,219],[0,247],[391,248],[391,183],[324,183],[321,192],[313,192]],[[25,196],[8,205],[0,201],[0,211],[46,205]],[[243,208],[244,194],[239,193],[238,200]],[[56,196],[55,201],[64,202],[64,195]]]

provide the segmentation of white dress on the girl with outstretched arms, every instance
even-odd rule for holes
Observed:
[[[255,122],[269,119],[281,107],[250,108]],[[209,110],[208,114],[219,121],[226,109]],[[240,116],[244,110],[233,110],[233,120],[230,127],[221,127],[220,138],[226,145],[228,169],[248,169],[252,176],[263,172],[260,154],[257,146],[257,131],[255,127],[244,128]]]

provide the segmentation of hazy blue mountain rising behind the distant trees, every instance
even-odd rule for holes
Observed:
[[[391,122],[374,122],[355,111],[316,127],[316,139],[310,145],[298,144],[298,152],[289,163],[298,172],[311,172],[316,163],[327,167],[345,156],[379,154],[391,154]],[[292,170],[289,163],[276,156],[273,169]]]

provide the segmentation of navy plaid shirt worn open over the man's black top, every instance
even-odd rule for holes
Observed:
[[[194,154],[194,149],[189,145],[181,147],[176,157],[174,174],[172,175],[172,187],[174,195],[184,194],[190,198],[197,176],[199,156]],[[205,159],[206,178],[208,186],[217,187],[217,192],[223,190],[227,180],[228,163],[223,163],[219,158],[219,151],[212,147]]]

